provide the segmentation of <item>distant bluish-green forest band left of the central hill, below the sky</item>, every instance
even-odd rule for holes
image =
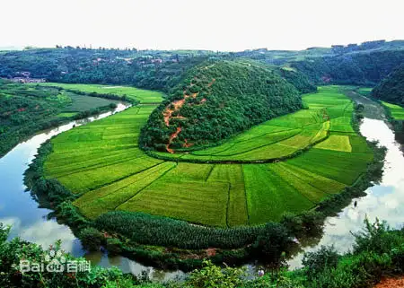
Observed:
[[[0,54],[0,77],[43,78],[59,83],[126,84],[167,90],[189,67],[216,57],[210,51],[36,48]]]

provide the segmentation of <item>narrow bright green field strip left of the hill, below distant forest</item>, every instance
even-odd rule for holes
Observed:
[[[115,94],[119,96],[126,95],[132,100],[139,100],[140,103],[160,103],[162,101],[162,92],[138,89],[129,86],[97,85],[97,84],[69,84],[69,83],[40,83],[41,86],[62,87],[69,90],[100,94]]]

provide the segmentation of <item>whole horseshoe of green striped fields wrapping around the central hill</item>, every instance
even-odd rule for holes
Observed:
[[[219,227],[280,220],[300,213],[351,185],[373,159],[350,125],[352,103],[337,86],[303,97],[309,109],[275,118],[228,142],[181,154],[186,159],[269,159],[271,163],[163,161],[137,146],[154,105],[140,105],[76,127],[52,139],[45,162],[56,178],[80,197],[75,205],[89,218],[136,211]],[[321,141],[323,140],[323,141]],[[318,143],[318,144],[315,144]]]

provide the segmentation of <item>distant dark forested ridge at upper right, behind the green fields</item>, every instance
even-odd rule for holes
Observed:
[[[359,84],[373,86],[404,63],[404,50],[356,51],[329,57],[294,61],[291,66],[316,84]]]

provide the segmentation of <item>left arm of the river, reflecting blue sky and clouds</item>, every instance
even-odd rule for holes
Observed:
[[[74,126],[77,127],[97,119],[106,118],[111,114],[127,109],[127,107],[127,105],[119,103],[117,109],[111,112],[49,129],[18,144],[12,151],[5,154],[0,159],[0,223],[13,226],[10,238],[19,236],[23,240],[38,243],[43,247],[53,244],[56,240],[62,240],[63,249],[77,257],[85,256],[92,261],[92,264],[105,267],[119,266],[124,272],[135,275],[146,270],[155,280],[166,280],[182,275],[182,273],[159,271],[152,267],[142,266],[125,257],[108,257],[101,252],[87,254],[80,241],[75,238],[75,235],[66,225],[59,224],[55,220],[48,220],[47,215],[51,211],[39,208],[37,202],[31,198],[31,194],[24,192],[26,187],[23,182],[23,173],[34,159],[40,144]]]

